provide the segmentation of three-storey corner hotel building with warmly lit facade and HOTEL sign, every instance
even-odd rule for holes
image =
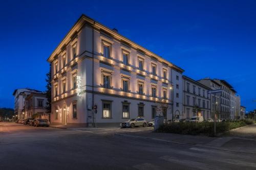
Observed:
[[[160,103],[169,106],[163,111],[167,119],[182,115],[184,70],[85,15],[48,62],[51,124],[119,124],[137,117],[148,121],[160,114]]]

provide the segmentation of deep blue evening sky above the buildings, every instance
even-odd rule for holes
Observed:
[[[225,79],[256,108],[256,1],[4,1],[0,107],[12,92],[45,90],[47,58],[84,13],[185,69]]]

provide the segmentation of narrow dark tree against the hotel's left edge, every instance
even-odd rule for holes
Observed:
[[[46,74],[46,98],[47,98],[47,105],[46,105],[46,112],[49,114],[49,121],[51,118],[52,112],[52,66],[50,64],[49,72]]]

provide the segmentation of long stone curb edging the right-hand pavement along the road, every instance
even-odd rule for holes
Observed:
[[[137,138],[137,139],[150,139],[150,140],[153,140],[153,141],[156,141],[156,142],[167,143],[167,144],[180,144],[180,145],[184,145],[184,146],[187,146],[187,147],[194,147],[194,148],[212,149],[212,150],[224,151],[224,152],[233,152],[233,153],[243,153],[243,154],[256,155],[255,152],[241,152],[241,151],[234,151],[234,150],[219,149],[219,148],[215,148],[215,147],[203,147],[203,146],[200,146],[200,145],[193,145],[193,144],[181,143],[181,142],[176,142],[176,141],[157,139],[157,138],[152,138],[152,137],[125,135],[125,134],[119,134],[119,133],[115,133],[115,135],[124,136],[124,137],[132,137],[132,138]]]

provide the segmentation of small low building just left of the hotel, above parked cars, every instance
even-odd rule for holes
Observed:
[[[46,113],[47,98],[44,92],[31,92],[25,98],[25,118],[49,119]]]

